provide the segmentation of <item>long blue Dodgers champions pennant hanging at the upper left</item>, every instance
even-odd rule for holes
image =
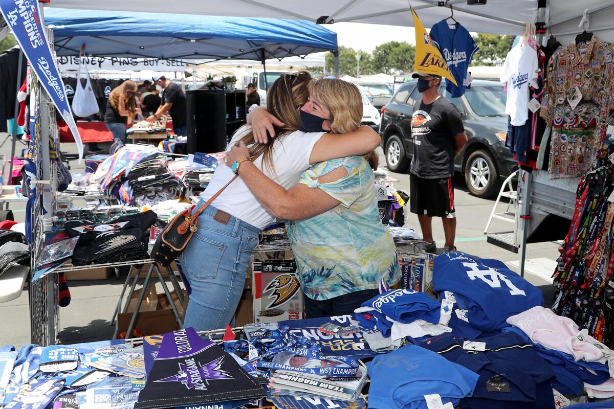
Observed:
[[[21,51],[30,62],[30,67],[36,73],[42,86],[49,94],[53,105],[58,109],[68,128],[74,136],[79,151],[79,159],[83,158],[83,142],[72,118],[71,107],[66,98],[64,83],[56,65],[55,57],[49,48],[41,24],[39,4],[37,0],[0,0],[0,12],[9,23],[10,31],[21,47]]]

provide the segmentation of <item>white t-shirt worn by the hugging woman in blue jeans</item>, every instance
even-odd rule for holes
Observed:
[[[235,143],[251,131],[251,126],[246,125],[238,129],[233,139],[228,144],[228,150]],[[296,185],[305,170],[309,169],[309,156],[316,142],[324,135],[324,132],[301,132],[295,131],[284,136],[273,143],[271,159],[273,170],[271,173],[268,167],[262,163],[262,155],[254,161],[255,166],[286,189]],[[216,172],[211,178],[211,182],[203,193],[200,194],[204,200],[208,200],[217,193],[228,181],[235,176],[230,166],[220,163]],[[212,206],[243,220],[252,226],[262,230],[275,223],[276,218],[266,212],[265,208],[255,198],[254,194],[247,188],[247,185],[240,177],[235,182],[224,189],[211,204]]]

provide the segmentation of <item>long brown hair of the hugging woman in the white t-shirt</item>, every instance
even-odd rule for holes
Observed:
[[[274,126],[276,137],[270,143],[254,143],[254,132],[250,131],[241,138],[241,142],[249,147],[249,155],[262,155],[262,162],[266,169],[274,172],[273,143],[279,142],[284,136],[298,129],[298,108],[307,102],[309,97],[307,85],[311,81],[308,71],[299,71],[297,74],[281,74],[268,89],[266,94],[266,109],[285,126]]]

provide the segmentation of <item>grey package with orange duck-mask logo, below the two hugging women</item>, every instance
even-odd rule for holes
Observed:
[[[293,260],[252,264],[254,323],[303,319],[303,291],[295,276]]]

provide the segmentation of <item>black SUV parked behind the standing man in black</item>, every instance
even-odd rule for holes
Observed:
[[[403,83],[384,106],[379,134],[388,169],[408,172],[413,155],[411,114],[422,95],[416,80]],[[506,95],[503,84],[474,80],[464,96],[452,98],[441,85],[440,93],[461,111],[468,142],[454,166],[465,175],[467,188],[478,197],[492,197],[502,180],[516,170],[516,161],[505,147],[507,136]]]

